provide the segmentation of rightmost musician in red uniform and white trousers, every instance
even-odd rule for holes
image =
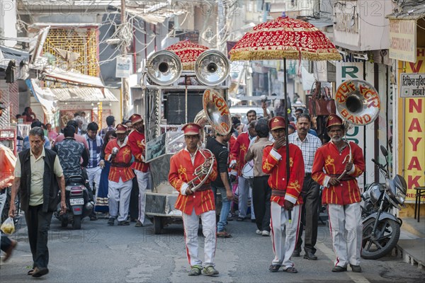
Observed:
[[[324,186],[322,203],[328,204],[329,228],[336,253],[332,271],[346,271],[350,263],[353,272],[361,272],[363,226],[356,178],[365,170],[365,160],[357,144],[342,139],[344,124],[339,116],[329,115],[326,127],[331,141],[317,149],[312,178]]]

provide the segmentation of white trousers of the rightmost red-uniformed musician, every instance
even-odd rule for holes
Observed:
[[[363,224],[360,202],[328,204],[329,229],[336,255],[335,265],[360,265]]]

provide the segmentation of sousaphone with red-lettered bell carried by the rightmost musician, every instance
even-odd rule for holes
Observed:
[[[378,117],[380,111],[380,98],[378,91],[368,81],[352,79],[339,85],[335,94],[335,105],[344,120],[344,136],[348,129],[356,126],[365,126]],[[350,153],[344,162],[351,162],[351,146],[347,142]],[[346,170],[337,178],[341,180]]]

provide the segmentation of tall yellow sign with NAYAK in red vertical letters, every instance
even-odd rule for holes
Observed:
[[[425,73],[425,49],[417,50],[417,61],[406,64],[406,74]],[[399,62],[402,69],[402,62]],[[402,82],[399,81],[399,86]],[[400,89],[400,88],[399,88]],[[398,98],[398,168],[407,182],[407,201],[414,202],[414,187],[425,185],[425,98]]]

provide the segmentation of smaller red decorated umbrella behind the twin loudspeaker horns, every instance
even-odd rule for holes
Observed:
[[[190,40],[181,40],[174,45],[166,47],[165,50],[172,51],[180,57],[181,64],[183,64],[183,70],[193,70],[199,54],[208,50],[208,47],[198,45]]]

